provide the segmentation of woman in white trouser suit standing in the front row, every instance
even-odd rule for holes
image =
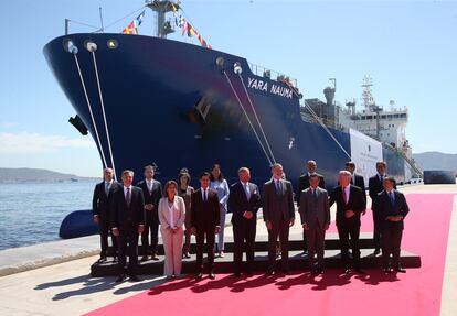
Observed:
[[[167,182],[166,196],[159,201],[160,231],[164,249],[164,275],[176,277],[181,274],[183,225],[185,205],[182,197],[177,195],[178,185],[174,181]]]

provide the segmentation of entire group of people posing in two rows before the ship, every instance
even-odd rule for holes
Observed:
[[[392,269],[404,272],[400,264],[403,219],[408,213],[404,195],[395,189],[395,181],[385,174],[386,164],[376,163],[378,174],[370,178],[374,221],[373,239],[375,254],[382,249],[383,271]],[[348,162],[339,172],[338,186],[326,190],[323,176],[317,173],[317,163],[307,162],[307,173],[299,178],[297,206],[304,229],[305,252],[313,274],[323,273],[325,236],[330,226],[330,207],[337,205],[336,224],[341,247],[344,273],[353,269],[363,273],[360,264],[359,235],[361,216],[365,214],[366,197],[363,177],[354,173],[355,164]],[[263,209],[263,220],[268,231],[267,274],[277,273],[277,243],[279,239],[280,271],[289,274],[289,229],[295,224],[294,189],[285,179],[283,166],[272,166],[272,178],[258,186],[251,182],[247,167],[238,170],[238,181],[230,185],[221,167],[200,175],[200,188],[190,186],[190,174],[182,170],[178,182],[164,185],[153,179],[153,166],[145,167],[145,178],[132,185],[134,172],[124,171],[121,183],[116,183],[111,168],[104,171],[104,182],[96,185],[93,198],[94,221],[99,225],[100,259],[107,259],[108,236],[118,262],[118,282],[127,275],[137,281],[138,239],[141,236],[144,255],[141,261],[158,260],[158,232],[164,249],[164,274],[176,277],[181,274],[183,258],[190,258],[191,236],[196,240],[196,277],[203,277],[203,252],[208,255],[208,274],[214,279],[214,254],[224,255],[225,215],[232,213],[234,238],[234,274],[253,274],[257,213]],[[216,236],[219,235],[217,242]],[[149,238],[150,237],[150,238]],[[217,243],[217,246],[216,246]],[[128,247],[127,247],[128,246]],[[352,266],[349,248],[352,252]],[[128,249],[128,266],[126,266]],[[243,251],[246,262],[243,266]],[[392,255],[392,264],[391,262]],[[117,257],[117,258],[116,258]]]

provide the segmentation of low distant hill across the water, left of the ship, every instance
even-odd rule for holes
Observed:
[[[74,174],[63,174],[42,168],[6,168],[0,167],[0,183],[18,182],[77,182],[92,181],[93,177],[81,177]]]

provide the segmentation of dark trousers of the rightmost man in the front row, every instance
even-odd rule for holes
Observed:
[[[384,268],[389,268],[392,254],[392,266],[398,268],[400,250],[402,244],[403,228],[392,226],[382,230],[382,261]]]

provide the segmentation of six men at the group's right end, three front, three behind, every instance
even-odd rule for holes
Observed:
[[[352,251],[352,269],[364,273],[360,264],[361,216],[366,211],[366,194],[363,176],[358,175],[354,162],[347,162],[339,172],[338,186],[330,193],[325,189],[323,176],[318,174],[317,163],[307,162],[308,172],[299,178],[297,205],[304,227],[305,252],[308,252],[311,272],[323,272],[325,231],[330,224],[330,207],[337,204],[336,224],[340,239],[344,273],[351,271],[349,248]],[[395,179],[385,173],[386,163],[376,162],[376,174],[369,179],[372,199],[374,255],[382,249],[383,271],[405,272],[400,263],[403,220],[410,211],[405,196],[396,190]],[[317,263],[315,262],[317,254]],[[392,255],[392,263],[391,263]]]

